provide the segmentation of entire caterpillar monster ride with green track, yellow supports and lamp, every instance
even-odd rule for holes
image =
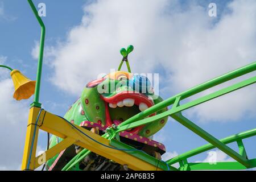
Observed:
[[[28,117],[22,170],[34,170],[41,165],[46,166],[47,170],[63,171],[188,171],[256,167],[256,159],[248,159],[242,142],[243,139],[255,136],[256,129],[217,139],[182,114],[182,111],[191,107],[254,84],[256,76],[196,100],[180,104],[180,101],[185,98],[255,71],[256,62],[204,82],[167,100],[163,100],[161,97],[150,100],[149,98],[155,95],[148,79],[131,73],[127,57],[133,51],[133,46],[129,46],[127,49],[121,49],[123,59],[118,71],[89,82],[79,100],[72,105],[64,117],[60,117],[42,109],[39,102],[46,29],[32,0],[28,0],[28,3],[42,28],[36,81],[29,80],[18,70],[0,65],[0,67],[11,71],[16,100],[27,99],[35,94]],[[128,72],[120,71],[123,62],[126,63]],[[108,85],[117,86],[120,81],[122,85],[115,90],[110,90]],[[143,88],[143,83],[146,84],[145,88]],[[127,84],[133,86],[127,86]],[[137,85],[137,89],[135,89],[135,85]],[[99,93],[97,88],[101,88],[103,91]],[[142,89],[146,89],[146,93],[142,93]],[[171,109],[168,109],[168,106],[171,106]],[[151,136],[162,129],[168,121],[168,117],[174,118],[209,143],[165,162],[162,161],[161,155],[165,152],[164,145],[152,140]],[[43,154],[36,156],[39,130],[48,133],[48,146]],[[49,140],[49,134],[52,134],[51,140]],[[237,143],[239,152],[226,145],[233,142]],[[189,158],[192,156],[213,148],[225,152],[235,162],[217,162],[215,165],[189,162]],[[172,165],[175,163],[179,163],[180,167],[173,167]]]

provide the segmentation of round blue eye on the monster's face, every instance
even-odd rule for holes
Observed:
[[[139,93],[148,93],[151,89],[151,82],[146,76],[134,75],[129,80],[129,86]]]

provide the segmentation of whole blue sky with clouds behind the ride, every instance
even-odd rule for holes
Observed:
[[[35,5],[40,2],[47,8],[40,102],[57,115],[65,114],[87,82],[99,73],[117,69],[119,48],[129,44],[135,47],[130,58],[132,71],[159,73],[159,92],[164,99],[255,61],[254,1],[130,1],[122,5],[114,1],[34,1]],[[217,5],[217,17],[208,16],[210,2]],[[0,30],[0,63],[35,79],[40,28],[26,1],[0,0]],[[95,53],[98,49],[101,54]],[[0,70],[0,79],[0,113],[24,114],[17,123],[12,117],[0,118],[0,127],[5,130],[1,138],[15,133],[9,137],[12,144],[0,140],[1,148],[12,151],[1,150],[0,156],[16,156],[11,162],[2,160],[0,169],[18,169],[26,109],[32,100],[13,101],[6,72]],[[255,127],[255,101],[253,85],[185,115],[215,137],[224,138]],[[10,109],[3,108],[5,104]],[[166,145],[166,158],[206,143],[172,119],[155,139]],[[249,158],[255,158],[255,138],[244,143]],[[236,145],[230,146],[237,150]],[[46,134],[42,133],[39,148],[45,147]],[[207,154],[191,162],[205,158]],[[228,156],[221,159],[229,160]]]

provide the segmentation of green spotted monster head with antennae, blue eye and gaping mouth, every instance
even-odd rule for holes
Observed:
[[[123,59],[118,71],[86,85],[82,92],[81,104],[89,121],[105,126],[119,125],[133,115],[163,101],[154,94],[151,82],[146,76],[131,73],[127,57],[132,51],[133,46],[122,48],[120,52]],[[119,71],[123,62],[126,62],[129,72]],[[167,108],[159,110],[149,117],[166,110]],[[129,133],[150,137],[162,129],[167,118],[131,129]]]

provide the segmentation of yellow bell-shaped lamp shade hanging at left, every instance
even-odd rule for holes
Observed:
[[[13,79],[15,88],[13,94],[15,100],[20,101],[22,99],[28,99],[35,93],[36,81],[31,81],[16,69],[11,71],[11,78]]]

